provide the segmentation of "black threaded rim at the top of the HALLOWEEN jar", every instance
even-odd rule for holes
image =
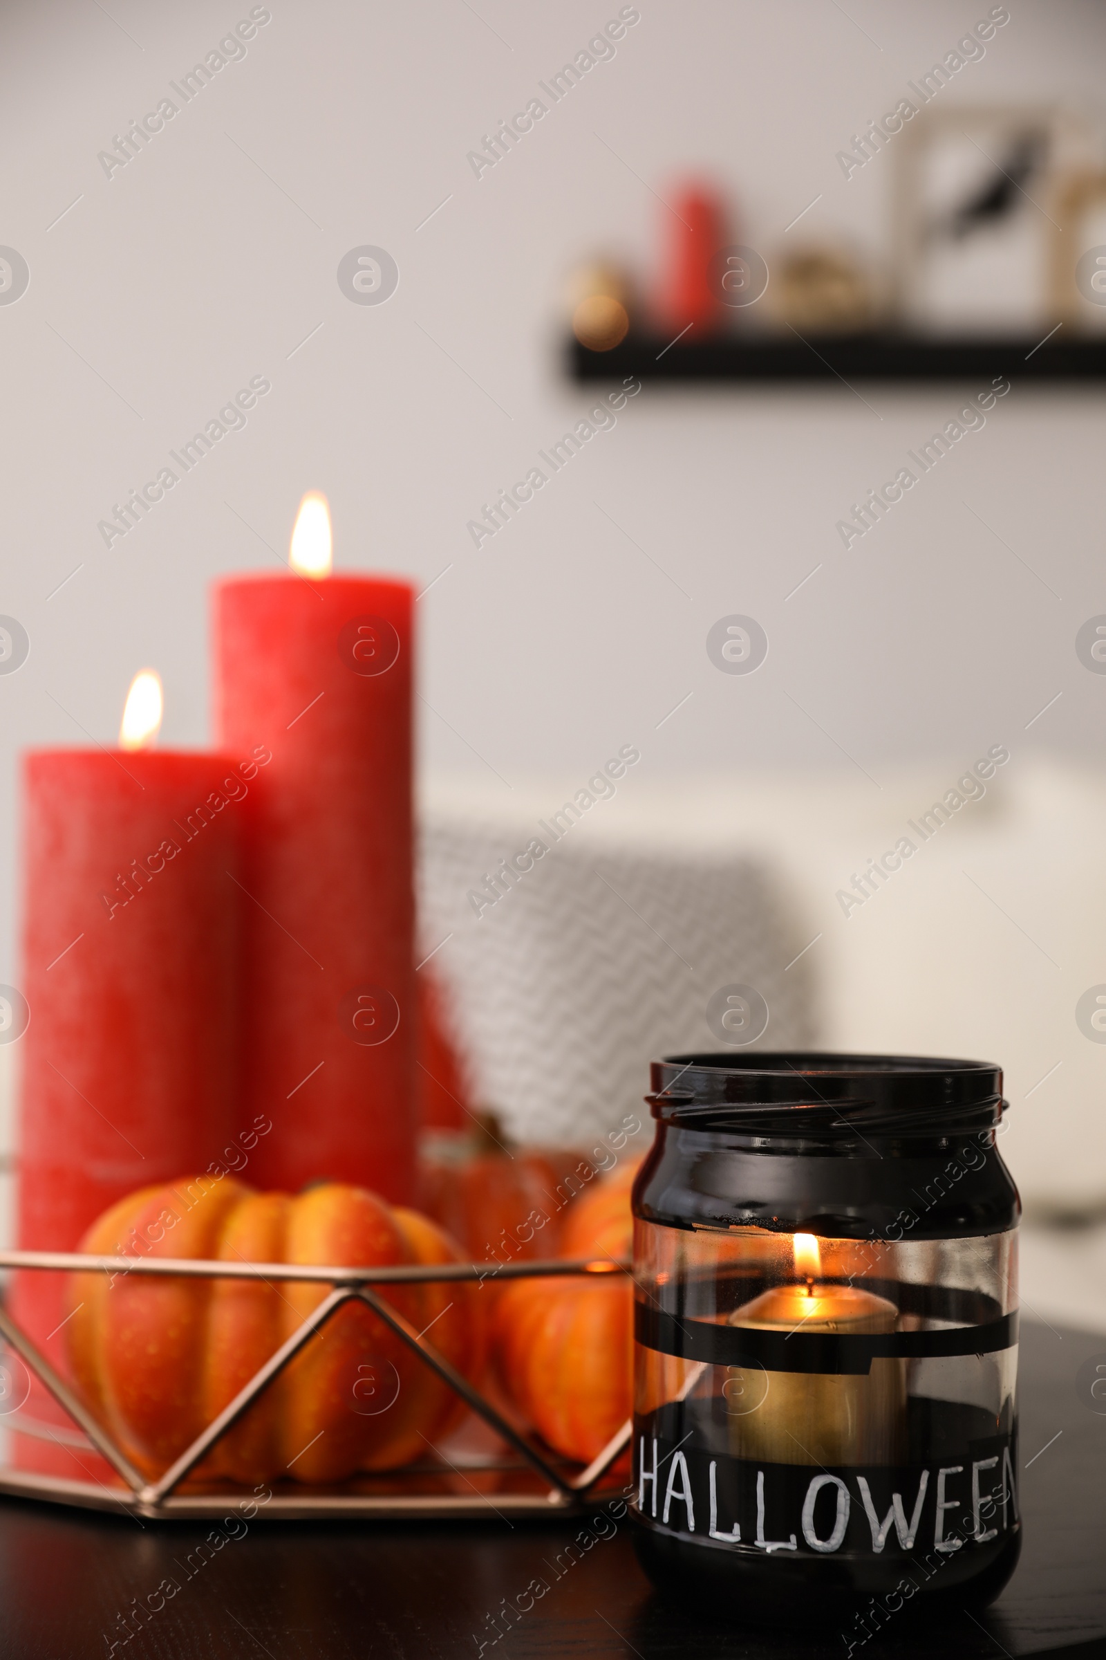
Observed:
[[[856,1127],[945,1134],[998,1124],[1002,1067],[902,1054],[764,1051],[675,1054],[650,1066],[658,1119],[773,1135]]]

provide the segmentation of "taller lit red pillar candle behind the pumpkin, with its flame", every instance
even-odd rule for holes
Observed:
[[[245,803],[244,1111],[260,1187],[415,1190],[411,586],[333,574],[323,496],[292,569],[216,586],[219,742],[272,750]]]

